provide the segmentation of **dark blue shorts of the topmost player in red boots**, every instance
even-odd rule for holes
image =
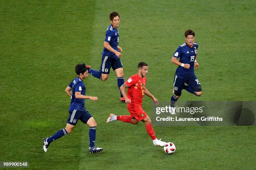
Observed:
[[[102,54],[100,72],[103,74],[109,74],[110,67],[112,67],[113,70],[115,70],[118,68],[123,68],[123,64],[122,64],[120,58],[112,58],[112,57],[105,56]]]

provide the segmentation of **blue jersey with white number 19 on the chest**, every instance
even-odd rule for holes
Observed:
[[[193,47],[189,47],[187,43],[180,45],[178,49],[174,52],[173,57],[179,58],[179,62],[184,64],[189,64],[189,69],[179,66],[175,74],[179,78],[187,78],[194,75],[194,62],[195,57],[197,56],[198,45],[196,42],[193,43]]]

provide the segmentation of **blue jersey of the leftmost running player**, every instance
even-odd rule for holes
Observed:
[[[70,82],[69,87],[72,88],[72,96],[71,96],[71,103],[70,103],[69,111],[70,110],[79,110],[79,111],[85,110],[85,107],[84,107],[85,99],[77,99],[75,97],[76,92],[81,92],[81,95],[85,95],[86,89],[85,89],[83,80],[81,80],[79,77],[76,77],[76,78],[74,78],[74,80],[72,80],[72,82]]]

